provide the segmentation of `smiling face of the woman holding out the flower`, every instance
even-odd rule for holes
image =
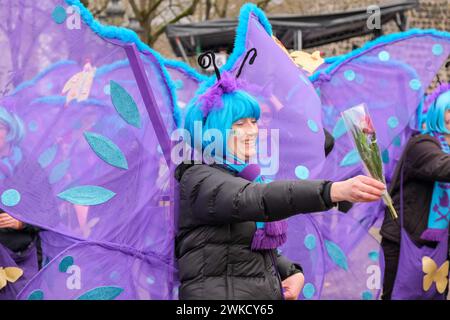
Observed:
[[[242,118],[234,122],[228,138],[228,150],[243,161],[256,155],[258,124],[255,118]]]

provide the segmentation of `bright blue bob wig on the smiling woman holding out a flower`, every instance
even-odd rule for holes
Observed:
[[[213,139],[210,139],[205,133],[208,130],[216,129],[222,134],[222,154],[225,154],[229,134],[228,130],[231,129],[233,123],[243,118],[255,118],[258,120],[260,117],[261,109],[258,101],[242,90],[225,93],[221,96],[221,99],[222,107],[213,108],[206,119],[203,119],[203,112],[200,109],[198,100],[189,107],[185,118],[184,128],[191,135],[192,147],[196,146],[194,141],[201,139],[202,149],[204,149],[211,141],[213,141]],[[204,138],[194,135],[196,122],[202,124]]]

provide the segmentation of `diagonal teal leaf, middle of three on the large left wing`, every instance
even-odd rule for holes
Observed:
[[[110,139],[92,132],[85,132],[84,137],[100,159],[114,167],[128,169],[125,155]]]

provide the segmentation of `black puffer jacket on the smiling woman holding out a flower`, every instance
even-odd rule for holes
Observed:
[[[255,184],[204,164],[182,164],[176,178],[180,299],[282,299],[281,281],[301,268],[276,250],[251,250],[255,221],[330,209],[331,182]]]

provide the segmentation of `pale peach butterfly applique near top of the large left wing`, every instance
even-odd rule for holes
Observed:
[[[67,93],[66,103],[72,100],[87,100],[91,92],[94,75],[97,68],[92,67],[88,62],[84,65],[83,71],[73,75],[64,85],[62,93]]]

